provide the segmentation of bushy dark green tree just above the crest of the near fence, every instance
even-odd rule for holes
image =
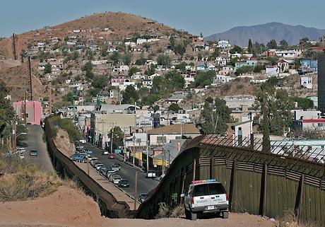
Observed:
[[[230,122],[230,110],[225,100],[215,98],[214,104],[206,102],[201,112],[203,134],[225,134]]]

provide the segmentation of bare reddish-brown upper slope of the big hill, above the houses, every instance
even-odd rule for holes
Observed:
[[[108,30],[102,31],[104,28]],[[141,16],[120,12],[94,13],[53,27],[16,35],[18,58],[21,50],[25,50],[33,40],[45,40],[48,37],[59,37],[64,40],[66,35],[71,35],[72,30],[96,31],[98,35],[110,40],[121,40],[124,37],[131,37],[134,33],[144,33],[149,30],[172,33],[172,28]],[[13,58],[12,37],[0,40],[0,59],[8,58]]]

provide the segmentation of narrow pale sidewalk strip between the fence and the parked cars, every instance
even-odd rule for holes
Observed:
[[[77,163],[79,168],[81,168],[87,174],[87,163]],[[119,187],[115,186],[112,182],[109,182],[105,177],[100,175],[91,165],[89,165],[89,175],[93,178],[100,186],[102,186],[107,192],[110,192],[117,201],[126,202],[130,206],[130,210],[134,210],[134,199],[131,198],[126,192],[124,192]],[[139,203],[136,203],[136,209],[138,209]]]

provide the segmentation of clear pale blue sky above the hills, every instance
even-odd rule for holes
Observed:
[[[1,0],[0,37],[105,11],[134,13],[204,36],[280,22],[325,29],[324,0]]]

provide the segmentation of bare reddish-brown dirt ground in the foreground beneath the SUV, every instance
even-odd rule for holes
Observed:
[[[103,227],[155,227],[155,226],[231,226],[231,227],[273,227],[275,222],[247,214],[230,214],[229,219],[107,219],[100,216],[98,204],[83,192],[71,187],[59,187],[49,197],[24,202],[0,204],[0,226],[103,226]]]

